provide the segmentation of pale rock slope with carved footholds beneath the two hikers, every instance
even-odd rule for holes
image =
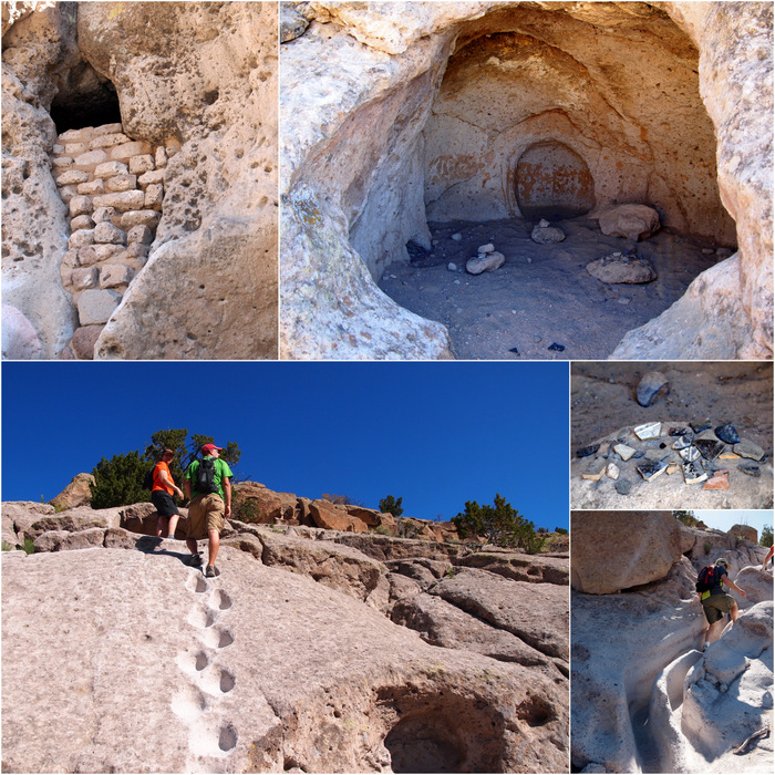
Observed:
[[[485,562],[524,567],[526,583],[458,566],[461,545],[230,520],[210,580],[180,544],[114,526],[149,506],[89,521],[83,509],[3,504],[3,533],[23,524],[42,549],[3,555],[7,766],[567,768],[567,643],[559,623],[541,634],[534,621],[547,604],[567,618],[567,583],[540,581],[560,580],[567,557]],[[372,541],[386,561],[363,552]],[[405,575],[420,567],[428,592]]]

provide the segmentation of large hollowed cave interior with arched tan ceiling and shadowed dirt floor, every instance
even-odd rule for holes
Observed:
[[[383,161],[351,241],[458,358],[606,358],[736,249],[696,50],[658,9],[598,10],[486,14],[462,25],[443,78],[403,87],[412,110],[397,91],[379,106],[406,152]],[[612,215],[629,205],[653,223]]]

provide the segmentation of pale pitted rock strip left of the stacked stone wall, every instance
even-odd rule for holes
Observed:
[[[59,3],[39,6],[11,3],[7,14],[3,4],[2,303],[17,308],[39,340],[40,350],[24,347],[10,355],[24,359],[59,358],[78,326],[60,280],[66,206],[48,154],[55,138],[48,108],[73,62],[75,29]]]

